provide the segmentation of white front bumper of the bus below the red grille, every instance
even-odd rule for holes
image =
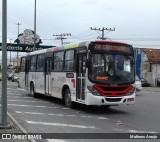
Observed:
[[[120,97],[106,97],[106,96],[94,96],[91,93],[86,95],[87,105],[120,105],[120,104],[134,104],[135,103],[135,93],[130,96],[120,96]]]

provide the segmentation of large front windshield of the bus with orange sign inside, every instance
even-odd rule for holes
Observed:
[[[91,54],[88,77],[91,82],[108,85],[134,83],[134,57],[113,54]]]

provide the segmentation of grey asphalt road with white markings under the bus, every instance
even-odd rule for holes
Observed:
[[[91,133],[94,135],[94,133],[160,132],[159,92],[142,90],[137,93],[134,105],[114,106],[109,109],[84,105],[76,105],[74,109],[69,109],[59,99],[44,96],[32,98],[29,92],[18,88],[12,82],[8,82],[7,93],[9,113],[29,133]],[[87,141],[96,142],[97,140]]]

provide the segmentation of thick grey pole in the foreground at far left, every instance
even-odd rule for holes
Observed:
[[[7,129],[7,0],[2,0],[2,98],[0,129]]]

